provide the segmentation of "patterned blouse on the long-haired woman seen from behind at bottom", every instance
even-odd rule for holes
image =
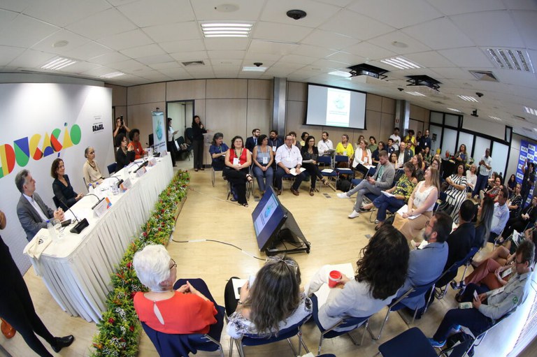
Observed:
[[[312,312],[312,304],[310,298],[306,296],[306,293],[300,294],[300,303],[296,307],[294,312],[287,317],[287,319],[280,321],[278,328],[283,330],[290,326],[296,325],[307,316],[310,316]],[[229,316],[229,322],[227,323],[227,334],[233,338],[240,338],[244,334],[257,335],[259,331],[255,327],[254,323],[249,319],[246,319],[240,311],[236,311]]]

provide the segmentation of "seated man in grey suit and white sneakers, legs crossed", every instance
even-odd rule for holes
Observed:
[[[364,201],[365,194],[374,194],[375,196],[380,196],[381,191],[385,191],[392,187],[394,182],[395,169],[394,166],[388,161],[388,153],[385,150],[382,150],[378,153],[378,166],[373,177],[368,177],[367,179],[361,180],[357,186],[348,191],[338,194],[339,198],[350,198],[355,193],[358,193],[356,196],[356,203],[354,210],[349,214],[349,218],[359,217],[361,211],[361,203]]]

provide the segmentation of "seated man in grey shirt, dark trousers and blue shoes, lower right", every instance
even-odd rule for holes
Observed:
[[[433,347],[443,347],[450,330],[456,326],[469,328],[474,336],[480,335],[506,314],[524,303],[531,286],[531,267],[535,258],[535,245],[526,240],[517,249],[515,258],[516,274],[500,289],[482,292],[478,286],[470,284],[464,291],[463,301],[472,302],[471,309],[450,309],[445,314],[433,338]],[[480,293],[473,298],[473,291]]]

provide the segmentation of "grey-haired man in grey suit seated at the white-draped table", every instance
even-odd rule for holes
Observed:
[[[26,232],[27,240],[30,241],[34,235],[41,229],[47,228],[49,219],[64,220],[64,211],[62,208],[51,210],[41,197],[36,194],[36,180],[31,177],[28,170],[21,170],[15,176],[15,185],[21,195],[17,203],[17,216],[20,225]]]

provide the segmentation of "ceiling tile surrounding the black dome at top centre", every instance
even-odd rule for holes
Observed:
[[[307,15],[300,20],[294,20],[287,16],[287,11],[291,9],[303,10]],[[267,1],[261,20],[303,27],[319,27],[339,10],[341,10],[340,6],[308,0]]]

